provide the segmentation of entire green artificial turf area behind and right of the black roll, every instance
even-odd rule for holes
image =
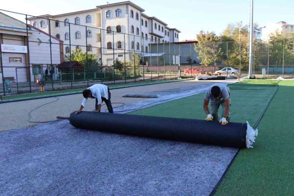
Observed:
[[[230,85],[231,121],[254,125],[274,94],[278,81],[246,80]],[[294,195],[294,81],[281,81],[258,125],[253,149],[239,151],[215,195]],[[204,119],[203,93],[131,112]],[[221,115],[221,110],[219,115]]]

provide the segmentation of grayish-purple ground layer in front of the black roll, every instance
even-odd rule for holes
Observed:
[[[209,195],[236,152],[47,123],[0,133],[0,195]]]

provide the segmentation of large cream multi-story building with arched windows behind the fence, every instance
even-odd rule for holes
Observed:
[[[169,28],[168,24],[147,16],[144,11],[131,1],[124,1],[28,20],[34,27],[63,40],[65,54],[81,48],[101,57],[104,65],[112,65],[116,58],[128,61],[134,52],[149,53],[150,43],[178,42],[178,29]]]

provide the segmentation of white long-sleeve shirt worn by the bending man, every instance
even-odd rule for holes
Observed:
[[[97,98],[98,104],[102,104],[101,97],[104,97],[108,100],[108,87],[104,84],[94,84],[90,86],[89,88],[92,92],[92,97]],[[82,106],[85,107],[87,103],[88,98],[84,98],[82,101]]]

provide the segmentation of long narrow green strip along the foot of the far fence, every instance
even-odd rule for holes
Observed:
[[[115,88],[122,88],[122,87],[131,87],[131,86],[140,86],[140,85],[149,85],[149,84],[161,84],[161,83],[170,83],[170,82],[180,82],[185,81],[187,79],[180,79],[180,80],[158,80],[158,81],[145,81],[145,82],[137,82],[137,83],[127,83],[127,84],[108,84],[110,89]],[[107,85],[107,84],[106,84]],[[31,99],[31,98],[46,98],[49,96],[60,96],[60,95],[66,95],[71,93],[80,93],[85,89],[83,88],[73,88],[73,89],[67,89],[67,90],[55,90],[55,91],[46,91],[46,92],[35,92],[35,93],[26,93],[26,94],[17,94],[17,95],[7,95],[2,96],[1,102],[7,102],[7,101],[14,101],[14,100],[25,100],[25,99]]]

